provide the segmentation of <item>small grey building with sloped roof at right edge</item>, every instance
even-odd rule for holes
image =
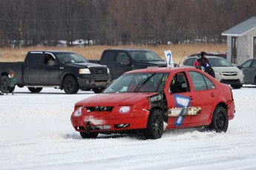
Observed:
[[[221,33],[227,36],[227,60],[240,65],[256,58],[256,17],[247,19]]]

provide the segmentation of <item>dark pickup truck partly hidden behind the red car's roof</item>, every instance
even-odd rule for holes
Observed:
[[[166,67],[166,62],[151,50],[145,49],[107,49],[99,60],[91,63],[106,65],[114,80],[124,72],[147,67]]]

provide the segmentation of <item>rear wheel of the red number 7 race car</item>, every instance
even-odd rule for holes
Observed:
[[[209,129],[216,132],[226,132],[229,127],[229,118],[223,106],[217,106],[214,110]]]

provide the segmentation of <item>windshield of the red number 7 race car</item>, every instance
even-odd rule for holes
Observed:
[[[168,73],[143,72],[121,75],[103,93],[116,92],[162,92]]]

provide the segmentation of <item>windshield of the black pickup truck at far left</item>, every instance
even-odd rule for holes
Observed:
[[[58,58],[61,63],[87,63],[88,61],[82,56],[74,53],[74,52],[59,52],[56,53],[56,58]]]

